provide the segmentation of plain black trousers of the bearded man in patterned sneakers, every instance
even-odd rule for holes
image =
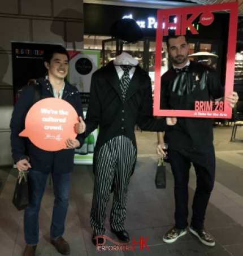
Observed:
[[[191,224],[194,228],[204,227],[204,219],[215,180],[214,146],[198,149],[168,149],[172,173],[175,180],[175,226],[188,226],[188,182],[193,163],[197,176],[197,188],[193,198]]]

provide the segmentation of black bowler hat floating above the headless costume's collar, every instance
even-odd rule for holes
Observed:
[[[137,42],[144,37],[144,33],[134,19],[120,19],[111,25],[112,37],[127,43]]]

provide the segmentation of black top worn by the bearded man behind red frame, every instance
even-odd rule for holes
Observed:
[[[188,72],[170,68],[161,77],[160,109],[194,110],[195,101],[209,102],[224,96],[218,75],[206,65],[190,61]],[[195,111],[196,113],[198,111]],[[165,134],[170,149],[205,149],[212,145],[212,119],[177,118]],[[170,154],[170,153],[169,153]]]

